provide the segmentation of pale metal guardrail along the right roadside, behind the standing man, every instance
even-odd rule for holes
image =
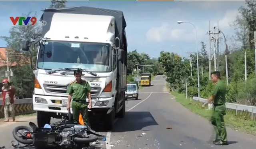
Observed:
[[[200,102],[206,102],[207,99],[201,98],[201,97],[192,97],[193,100],[200,101]],[[234,109],[236,110],[236,115],[238,114],[238,111],[248,111],[251,113],[251,118],[253,119],[253,115],[256,113],[256,107],[249,106],[249,105],[240,105],[236,103],[226,103],[226,108],[228,109]]]

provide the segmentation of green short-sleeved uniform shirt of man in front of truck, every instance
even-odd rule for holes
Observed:
[[[87,92],[91,91],[91,86],[88,82],[82,80],[78,83],[76,80],[70,82],[67,93],[72,95],[72,99],[85,100],[87,97]]]

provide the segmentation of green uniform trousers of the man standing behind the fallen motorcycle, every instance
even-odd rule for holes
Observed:
[[[86,100],[72,101],[72,111],[74,123],[79,123],[79,113],[82,114],[84,124],[90,127],[88,117],[88,107]]]

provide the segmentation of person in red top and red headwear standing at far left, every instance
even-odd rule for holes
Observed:
[[[9,121],[9,112],[12,115],[12,121],[15,121],[15,109],[14,109],[14,95],[15,89],[9,85],[8,79],[2,81],[2,94],[3,94],[3,106],[4,106],[4,117],[5,122]]]

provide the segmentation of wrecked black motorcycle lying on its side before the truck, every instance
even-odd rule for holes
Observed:
[[[15,127],[12,135],[16,141],[37,149],[82,149],[98,140],[98,137],[104,137],[92,132],[85,125],[74,124],[63,118],[60,122],[46,124],[43,128],[38,128],[32,122],[29,125],[30,127]]]

